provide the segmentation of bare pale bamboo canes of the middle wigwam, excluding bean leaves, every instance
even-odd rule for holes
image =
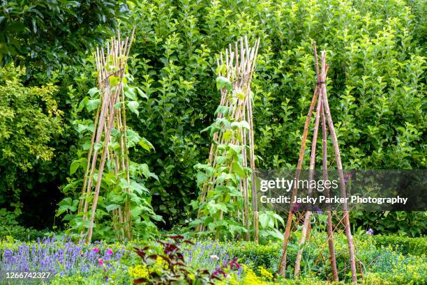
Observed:
[[[241,38],[239,42],[234,43],[234,47],[230,44],[225,52],[221,52],[217,59],[218,75],[225,77],[231,83],[231,88],[223,87],[220,89],[221,98],[220,106],[225,106],[230,110],[227,114],[227,119],[231,122],[246,121],[249,128],[241,128],[233,130],[231,127],[228,130],[222,130],[213,134],[213,143],[209,152],[209,166],[216,167],[216,157],[218,156],[219,144],[234,144],[241,146],[241,157],[243,167],[250,167],[252,174],[249,177],[239,180],[239,190],[244,199],[243,208],[239,209],[235,217],[246,228],[246,240],[250,240],[250,228],[253,226],[254,240],[259,240],[258,226],[258,207],[257,207],[257,192],[255,189],[255,154],[254,154],[254,139],[253,139],[253,115],[252,115],[252,98],[250,91],[250,83],[252,82],[253,71],[255,69],[255,61],[257,51],[260,45],[260,38],[255,41],[253,46],[249,46],[248,37]],[[242,95],[243,94],[243,95]],[[218,118],[224,118],[224,114],[218,112]],[[224,136],[224,133],[231,132],[231,136]],[[232,162],[230,163],[230,172]],[[222,183],[222,182],[220,182]],[[210,176],[202,186],[200,194],[200,204],[207,203],[208,193],[213,191],[217,185],[216,178]],[[251,201],[250,201],[251,199]],[[198,210],[197,219],[202,217],[202,210]],[[223,211],[220,211],[218,219],[223,219]],[[196,231],[202,232],[205,230],[204,224],[198,224]],[[216,235],[218,238],[219,232]]]

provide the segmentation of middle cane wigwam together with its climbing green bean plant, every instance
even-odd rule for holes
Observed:
[[[259,240],[255,154],[253,134],[253,93],[250,84],[255,69],[260,38],[250,46],[240,38],[221,52],[216,79],[220,105],[216,121],[208,129],[212,144],[207,164],[199,165],[202,188],[196,231],[213,229]],[[199,179],[198,179],[199,180]],[[226,228],[226,229],[225,229]]]

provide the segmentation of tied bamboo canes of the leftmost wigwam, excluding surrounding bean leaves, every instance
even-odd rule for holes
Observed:
[[[123,79],[134,32],[135,29],[133,29],[130,38],[126,37],[123,40],[121,40],[120,32],[118,32],[117,38],[112,38],[105,49],[96,49],[95,61],[100,104],[93,123],[91,147],[87,156],[87,169],[84,174],[84,184],[78,209],[79,214],[83,217],[82,234],[86,234],[87,229],[88,241],[93,235],[96,206],[105,165],[112,169],[116,178],[124,178],[128,183],[130,180]],[[118,104],[120,102],[121,104]],[[120,133],[119,148],[109,148],[112,143],[113,129]],[[112,219],[114,230],[121,233],[119,238],[132,239],[132,217],[129,201],[125,201],[124,206],[112,210]]]

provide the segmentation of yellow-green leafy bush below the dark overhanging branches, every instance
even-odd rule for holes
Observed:
[[[20,215],[21,189],[31,190],[24,177],[52,159],[50,141],[62,132],[62,111],[52,84],[26,87],[24,69],[10,66],[0,72],[0,204]]]

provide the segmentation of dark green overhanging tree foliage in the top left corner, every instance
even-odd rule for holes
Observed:
[[[30,66],[49,74],[100,43],[127,10],[121,0],[2,1],[0,64],[15,61],[27,66],[27,75]]]

